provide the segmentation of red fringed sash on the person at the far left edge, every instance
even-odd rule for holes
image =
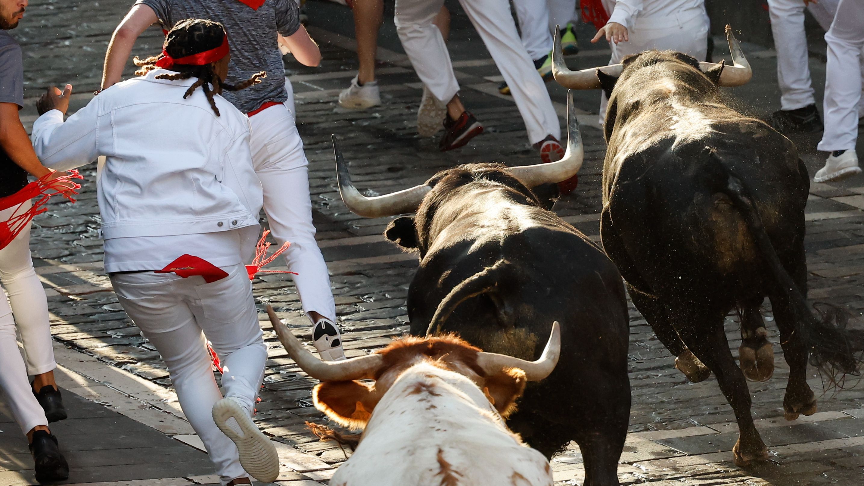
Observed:
[[[33,206],[22,214],[12,214],[9,220],[0,222],[0,249],[9,245],[15,237],[20,234],[36,214],[42,214],[48,211],[48,208],[43,208],[48,203],[53,195],[62,195],[69,201],[74,202],[73,195],[78,194],[78,189],[81,189],[81,184],[72,182],[72,179],[83,179],[78,170],[72,170],[66,176],[60,176],[53,180],[48,180],[51,174],[42,176],[35,182],[30,182],[23,189],[13,195],[0,197],[0,210],[13,208],[23,202],[29,201],[38,197],[34,201]],[[17,210],[16,210],[17,213]]]

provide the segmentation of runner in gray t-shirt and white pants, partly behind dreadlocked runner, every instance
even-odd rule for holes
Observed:
[[[229,82],[245,80],[262,69],[270,74],[248,90],[225,96],[249,116],[252,162],[264,188],[264,211],[279,244],[290,242],[284,255],[288,270],[296,273],[293,278],[303,311],[314,323],[315,348],[325,360],[343,360],[327,264],[315,241],[308,160],[295,114],[284,103],[288,93],[276,34],[284,36],[297,61],[307,66],[321,61],[321,52],[299,16],[294,0],[137,0],[111,37],[102,87],[120,80],[132,45],[149,25],[159,22],[170,29],[193,17],[226,26],[232,50]]]

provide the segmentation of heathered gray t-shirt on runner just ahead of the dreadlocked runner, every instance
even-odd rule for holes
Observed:
[[[266,0],[258,10],[239,0],[136,0],[156,12],[162,28],[170,30],[187,18],[203,18],[225,26],[231,46],[228,84],[238,84],[258,71],[267,78],[238,92],[222,93],[238,110],[251,112],[268,101],[288,99],[285,67],[276,32],[288,36],[300,28],[300,8],[294,0]]]

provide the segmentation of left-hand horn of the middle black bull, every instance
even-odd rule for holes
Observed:
[[[378,218],[393,214],[414,213],[420,206],[423,196],[431,189],[428,185],[421,184],[391,194],[366,197],[360,194],[360,191],[351,182],[348,164],[345,163],[342,151],[336,144],[335,135],[333,135],[333,151],[336,157],[336,182],[339,184],[339,194],[353,214],[366,218]]]

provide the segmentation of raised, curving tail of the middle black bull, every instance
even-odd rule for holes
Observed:
[[[453,314],[453,311],[467,299],[486,294],[492,299],[498,310],[498,318],[501,323],[508,323],[512,319],[512,312],[506,302],[499,298],[501,285],[508,278],[515,277],[513,266],[505,259],[499,259],[492,266],[487,266],[480,272],[474,273],[471,277],[463,280],[459,285],[456,285],[447,296],[445,296],[438,308],[435,309],[435,314],[429,321],[429,328],[426,331],[427,335],[434,335],[441,332],[441,328],[447,319]]]

